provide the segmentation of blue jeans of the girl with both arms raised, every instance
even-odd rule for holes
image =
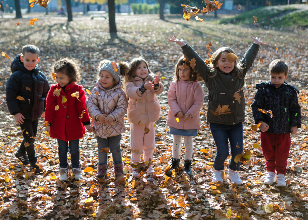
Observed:
[[[214,169],[224,169],[225,159],[229,156],[229,139],[231,149],[229,168],[239,170],[241,162],[235,163],[234,158],[243,152],[243,123],[235,125],[210,123],[210,128],[217,148]]]

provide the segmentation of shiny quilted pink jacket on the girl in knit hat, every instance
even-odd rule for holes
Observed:
[[[87,110],[93,119],[95,135],[101,138],[107,138],[119,135],[125,132],[124,115],[127,110],[127,96],[121,89],[122,82],[106,90],[97,80],[96,87],[92,90],[87,99]],[[110,124],[101,124],[97,118],[100,114],[110,115],[113,122]]]

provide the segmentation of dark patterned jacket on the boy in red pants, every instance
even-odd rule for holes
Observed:
[[[298,104],[297,88],[284,82],[276,89],[270,81],[257,84],[256,88],[258,90],[251,105],[256,124],[264,121],[270,127],[266,132],[274,134],[287,134],[291,132],[291,127],[301,127],[301,107]],[[260,112],[258,108],[272,111],[273,118]]]

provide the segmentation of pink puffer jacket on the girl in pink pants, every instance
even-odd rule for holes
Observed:
[[[149,80],[149,76],[144,80],[135,76],[134,82],[128,82],[125,86],[126,94],[130,98],[128,100],[127,117],[131,123],[147,124],[160,118],[160,104],[156,94],[164,91],[164,85],[159,82],[159,87],[156,90],[149,89],[141,95],[139,88]]]

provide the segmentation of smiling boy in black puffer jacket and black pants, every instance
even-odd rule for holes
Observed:
[[[30,163],[35,173],[41,169],[36,165],[34,151],[39,117],[45,115],[46,96],[49,84],[46,76],[39,71],[39,48],[34,45],[22,47],[11,64],[12,75],[6,84],[6,103],[15,121],[23,130],[23,141],[15,156],[24,164]]]

